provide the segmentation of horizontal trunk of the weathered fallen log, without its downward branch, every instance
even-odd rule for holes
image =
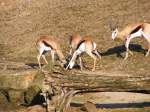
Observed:
[[[108,75],[111,73],[90,74],[87,72],[64,71],[55,69],[49,74],[53,86],[67,87],[74,90],[100,92],[150,92],[150,75]],[[49,83],[49,82],[47,82]]]

